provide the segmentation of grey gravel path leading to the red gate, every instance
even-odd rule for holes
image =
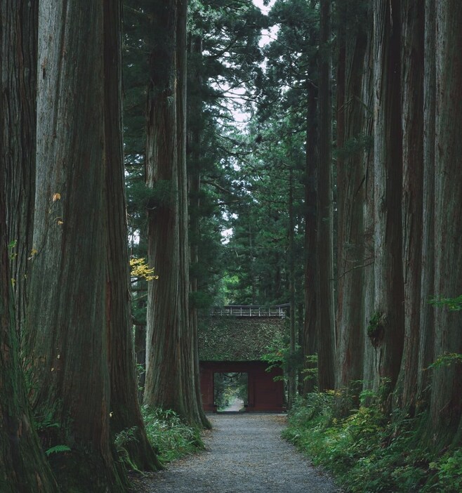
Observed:
[[[338,493],[329,476],[281,438],[282,414],[209,416],[204,452],[135,478],[137,493]]]

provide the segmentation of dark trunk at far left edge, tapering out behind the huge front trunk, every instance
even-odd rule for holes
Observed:
[[[27,305],[27,258],[32,250],[35,188],[35,128],[37,86],[38,2],[4,1],[4,42],[0,53],[2,81],[1,159],[4,175],[6,224],[10,247],[15,322],[22,333]],[[11,4],[8,6],[8,4]],[[6,35],[10,34],[7,39]],[[14,41],[13,41],[14,40]],[[14,245],[14,246],[13,246]]]

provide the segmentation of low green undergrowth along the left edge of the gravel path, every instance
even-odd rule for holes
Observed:
[[[165,464],[204,449],[199,428],[188,426],[171,409],[150,409],[143,406],[147,438]]]

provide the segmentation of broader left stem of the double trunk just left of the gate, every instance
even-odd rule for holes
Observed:
[[[164,187],[150,206],[147,254],[159,280],[149,284],[144,402],[186,416],[178,320],[178,155],[176,123],[176,0],[152,2],[152,51],[147,94],[146,183]],[[160,194],[161,192],[159,192]]]

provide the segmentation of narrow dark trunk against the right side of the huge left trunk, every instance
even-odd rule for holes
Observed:
[[[104,2],[105,164],[107,199],[106,322],[109,341],[111,430],[131,429],[124,444],[131,464],[161,467],[147,440],[138,403],[132,336],[124,155],[121,121],[121,1]]]

